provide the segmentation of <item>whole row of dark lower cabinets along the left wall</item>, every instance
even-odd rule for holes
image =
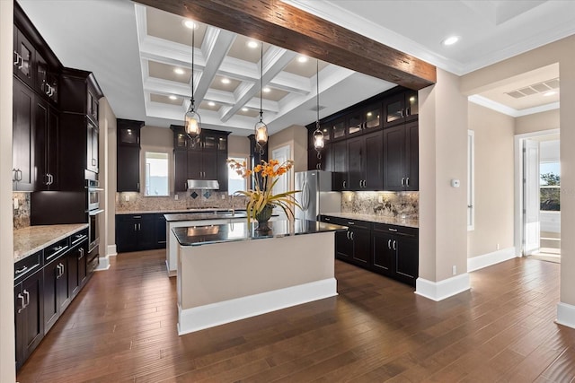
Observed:
[[[14,264],[17,370],[91,275],[85,261],[87,246],[84,229]]]

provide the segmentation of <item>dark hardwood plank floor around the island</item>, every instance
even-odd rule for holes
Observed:
[[[435,302],[336,261],[338,297],[178,336],[164,251],[120,254],[18,381],[575,382],[575,330],[553,323],[559,270],[512,259]]]

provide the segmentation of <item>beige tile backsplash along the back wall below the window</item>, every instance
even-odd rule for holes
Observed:
[[[190,190],[174,196],[143,196],[139,193],[116,193],[116,211],[170,211],[202,208],[244,209],[245,197],[228,196],[227,192]]]

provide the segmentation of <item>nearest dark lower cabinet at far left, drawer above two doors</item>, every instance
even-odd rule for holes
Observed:
[[[42,252],[23,259],[14,265],[22,277],[14,279],[14,331],[16,369],[22,364],[44,336],[42,294],[44,274],[41,269]],[[31,262],[32,261],[32,262]]]

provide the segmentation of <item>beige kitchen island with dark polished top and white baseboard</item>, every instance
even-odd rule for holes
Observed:
[[[315,221],[178,227],[180,335],[337,295],[334,233]]]

